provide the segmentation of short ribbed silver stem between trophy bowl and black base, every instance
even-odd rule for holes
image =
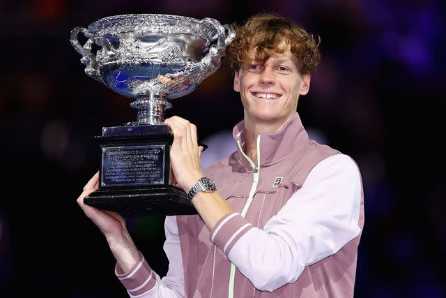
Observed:
[[[172,107],[171,103],[164,99],[165,96],[154,96],[153,94],[139,96],[131,107],[138,110],[137,122],[134,125],[163,125],[164,110]]]

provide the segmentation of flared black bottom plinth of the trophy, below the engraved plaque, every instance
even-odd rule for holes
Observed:
[[[98,189],[84,203],[122,216],[197,214],[187,193],[176,186],[135,189]]]

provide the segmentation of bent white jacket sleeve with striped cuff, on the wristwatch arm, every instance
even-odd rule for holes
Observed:
[[[361,193],[355,162],[344,154],[330,156],[263,230],[230,213],[215,225],[210,241],[257,289],[273,291],[360,234]]]

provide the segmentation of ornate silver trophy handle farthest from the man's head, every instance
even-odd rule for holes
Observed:
[[[82,46],[79,43],[79,40],[77,40],[77,35],[79,34],[79,32],[82,32],[84,36],[89,38],[84,46]],[[70,43],[72,47],[75,48],[76,52],[82,55],[81,63],[86,66],[85,73],[89,75],[89,77],[93,77],[93,79],[98,80],[102,84],[105,84],[98,70],[98,62],[96,61],[96,56],[91,52],[91,45],[93,44],[93,40],[93,33],[91,33],[89,29],[86,29],[84,27],[75,27],[71,30]]]

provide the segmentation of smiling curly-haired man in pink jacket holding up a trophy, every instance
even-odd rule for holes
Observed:
[[[364,223],[360,173],[350,157],[309,140],[296,113],[320,60],[317,47],[276,15],[237,28],[226,50],[244,108],[233,129],[238,151],[204,174],[197,128],[166,119],[177,185],[191,193],[199,216],[167,216],[164,278],[121,216],[83,203],[98,174],[86,184],[78,203],[105,234],[130,297],[353,297]],[[197,191],[199,180],[210,187]]]

